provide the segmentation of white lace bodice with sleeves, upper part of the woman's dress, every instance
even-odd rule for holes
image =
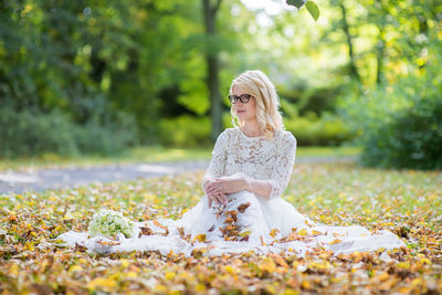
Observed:
[[[276,130],[267,139],[249,137],[239,128],[228,128],[217,139],[203,185],[211,178],[243,173],[266,179],[272,186],[269,198],[280,197],[292,176],[295,152],[296,139],[290,131]]]

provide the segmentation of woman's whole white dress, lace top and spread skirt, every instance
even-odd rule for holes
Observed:
[[[272,188],[269,197],[244,190],[228,194],[225,207],[212,204],[209,209],[204,194],[178,220],[159,219],[159,224],[137,222],[134,238],[120,234],[115,245],[101,243],[108,241],[105,238],[88,239],[87,232],[70,231],[59,238],[71,246],[80,244],[99,253],[158,250],[162,254],[172,251],[186,255],[198,249],[203,249],[203,255],[248,251],[259,254],[290,251],[303,255],[315,247],[339,254],[406,246],[387,230],[371,234],[360,225],[332,226],[314,222],[283,200],[281,196],[291,179],[295,152],[296,139],[288,131],[278,130],[272,139],[266,139],[248,137],[239,128],[225,129],[212,151],[203,189],[209,179],[243,175],[267,180]],[[148,235],[138,234],[141,226],[149,229]],[[166,228],[168,235],[165,235]]]

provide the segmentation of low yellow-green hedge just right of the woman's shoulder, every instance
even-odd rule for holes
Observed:
[[[285,119],[284,123],[286,129],[296,137],[298,146],[338,146],[354,137],[339,117],[318,118],[311,113],[309,116]]]

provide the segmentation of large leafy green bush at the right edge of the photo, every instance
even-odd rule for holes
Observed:
[[[439,44],[440,45],[440,44]],[[442,169],[441,48],[421,69],[343,103],[348,122],[364,146],[367,166]]]

